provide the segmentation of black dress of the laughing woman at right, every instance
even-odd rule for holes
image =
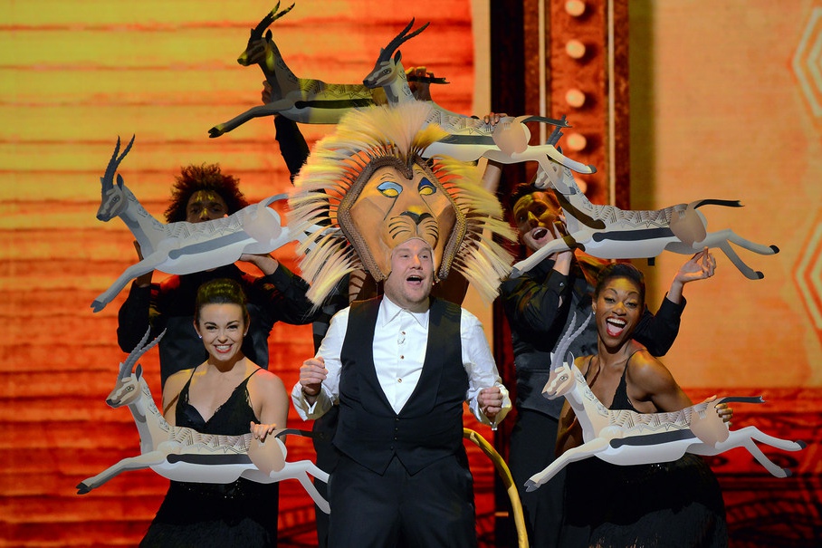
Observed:
[[[626,373],[610,409],[636,411],[628,399]],[[571,463],[562,537],[569,542],[559,545],[579,546],[572,539],[586,531],[588,543],[581,544],[586,547],[728,546],[719,483],[703,457],[690,453],[652,465],[612,465],[597,457]]]

